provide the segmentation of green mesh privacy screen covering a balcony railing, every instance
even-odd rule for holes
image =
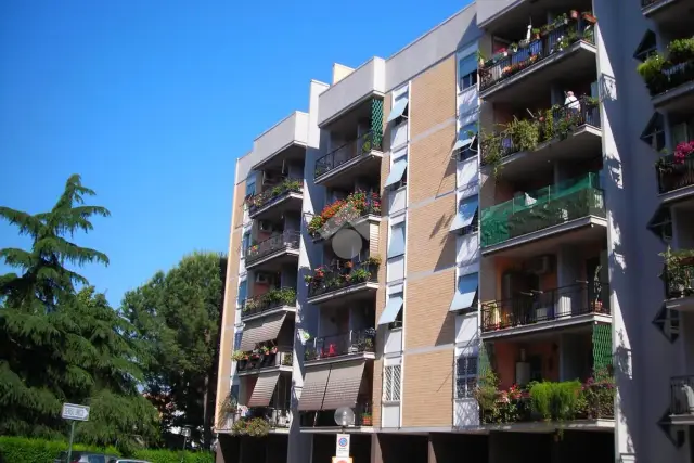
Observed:
[[[605,217],[597,173],[518,195],[481,211],[481,246],[493,246],[587,216]]]

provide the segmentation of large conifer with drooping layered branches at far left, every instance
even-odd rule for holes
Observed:
[[[93,229],[92,216],[108,216],[83,205],[93,194],[73,176],[49,213],[0,207],[0,217],[33,241],[29,250],[0,249],[21,271],[0,276],[0,435],[64,436],[62,403],[73,402],[91,407],[89,422],[77,426],[83,442],[128,447],[157,439],[156,410],[137,389],[144,356],[124,335],[132,326],[66,267],[108,262],[73,242],[76,232]]]

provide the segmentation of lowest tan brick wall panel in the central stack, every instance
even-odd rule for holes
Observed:
[[[453,347],[406,355],[402,426],[451,426],[453,421]]]

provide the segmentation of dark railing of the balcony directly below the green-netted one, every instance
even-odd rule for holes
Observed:
[[[505,300],[484,303],[481,331],[526,326],[588,313],[611,313],[607,283],[578,283],[554,290],[522,293]]]

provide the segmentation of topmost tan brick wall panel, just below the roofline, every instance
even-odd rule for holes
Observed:
[[[432,127],[455,117],[455,56],[412,80],[410,133],[415,139]]]

